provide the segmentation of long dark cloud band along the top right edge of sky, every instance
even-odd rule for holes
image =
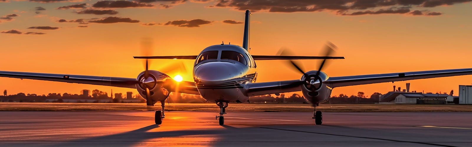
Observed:
[[[431,8],[469,1],[472,0],[218,0],[209,7],[234,8],[241,11],[249,9],[253,12],[335,11],[337,15],[366,15],[405,14],[410,12],[410,8]],[[431,15],[440,15],[440,12]]]

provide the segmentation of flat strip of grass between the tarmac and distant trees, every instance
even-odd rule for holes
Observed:
[[[160,106],[121,103],[0,103],[0,111],[153,111]],[[312,112],[311,104],[229,104],[233,112]],[[321,104],[323,112],[472,112],[472,105]],[[216,104],[166,104],[166,111],[215,111]]]

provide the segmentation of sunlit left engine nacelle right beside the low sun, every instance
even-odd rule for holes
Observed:
[[[138,90],[138,93],[141,95],[141,97],[146,98],[146,86],[149,88],[149,94],[150,98],[152,100],[152,104],[155,104],[158,101],[163,101],[166,100],[167,96],[169,95],[169,90],[166,90],[162,84],[166,82],[167,80],[172,80],[172,78],[169,77],[169,75],[161,73],[159,71],[155,70],[148,70],[149,72],[149,77],[146,79],[144,73],[141,72],[139,73],[137,77],[137,81],[150,81],[153,80],[154,82],[147,82],[141,84],[136,84],[136,89]]]

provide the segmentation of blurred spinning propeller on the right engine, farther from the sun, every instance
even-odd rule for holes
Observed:
[[[334,49],[337,49],[336,45],[334,45],[333,43],[328,41],[326,43],[325,48],[324,48],[325,57],[329,57],[331,54],[333,54]],[[280,55],[280,56],[290,56],[290,54],[291,54],[291,51],[289,51],[289,49],[287,49],[287,48],[281,48],[278,51],[278,55]],[[306,89],[308,89],[310,91],[316,91],[316,90],[321,88],[322,81],[320,79],[320,73],[321,73],[321,70],[323,69],[324,65],[327,63],[326,59],[323,59],[323,61],[320,64],[320,67],[318,68],[318,71],[316,72],[315,75],[306,74],[304,72],[304,70],[301,68],[300,64],[297,63],[295,60],[288,60],[288,62],[290,63],[290,65],[292,66],[292,68],[294,70],[299,71],[300,73],[302,73],[304,75],[305,80],[300,81],[300,83],[299,83],[300,85],[304,84]],[[316,99],[311,99],[312,102],[314,102],[315,100]],[[314,103],[312,103],[312,104],[314,106]]]

